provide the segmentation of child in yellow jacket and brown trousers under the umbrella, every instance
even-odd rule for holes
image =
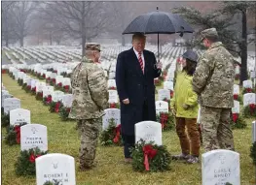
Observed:
[[[196,71],[197,61],[198,54],[195,51],[187,50],[183,54],[183,70],[177,73],[174,94],[170,102],[170,108],[176,121],[176,133],[182,150],[181,154],[172,158],[186,160],[189,164],[199,163],[201,146],[197,124],[198,96],[192,89],[192,77]],[[187,128],[189,137],[185,128]]]

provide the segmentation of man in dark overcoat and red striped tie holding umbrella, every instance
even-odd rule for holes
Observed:
[[[146,37],[132,36],[132,47],[118,55],[116,84],[121,105],[122,138],[125,161],[131,162],[129,148],[134,146],[134,125],[140,121],[156,121],[154,78],[160,77],[162,63],[145,50]]]

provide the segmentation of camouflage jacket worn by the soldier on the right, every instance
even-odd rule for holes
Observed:
[[[212,108],[233,108],[235,78],[232,54],[221,42],[212,44],[201,56],[193,77],[199,104]]]

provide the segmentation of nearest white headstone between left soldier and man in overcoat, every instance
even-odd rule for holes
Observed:
[[[121,117],[120,117],[120,109],[118,108],[107,108],[104,110],[105,111],[105,115],[103,115],[102,117],[102,129],[106,130],[109,126],[109,120],[111,118],[114,119],[114,122],[116,123],[116,125],[121,124]]]

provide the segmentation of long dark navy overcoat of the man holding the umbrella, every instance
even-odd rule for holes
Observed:
[[[131,47],[118,55],[116,66],[116,84],[121,105],[122,134],[134,135],[134,124],[142,120],[143,103],[148,103],[146,110],[149,120],[156,121],[154,78],[160,77],[161,70],[156,68],[155,54],[143,50],[145,67],[144,74],[137,56]],[[129,104],[123,104],[123,100]]]

